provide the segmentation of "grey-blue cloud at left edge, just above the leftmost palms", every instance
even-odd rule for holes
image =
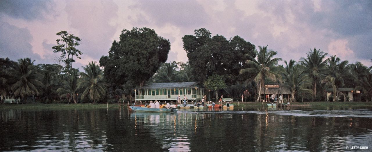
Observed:
[[[38,54],[32,52],[32,35],[27,28],[17,28],[7,22],[1,22],[0,26],[0,52],[1,58],[10,58],[16,61],[20,58],[40,60]]]

